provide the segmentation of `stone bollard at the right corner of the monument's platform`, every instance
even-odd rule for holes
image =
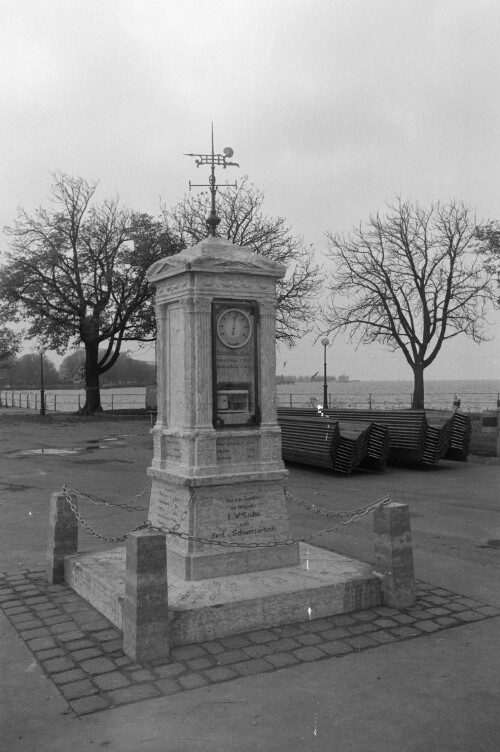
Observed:
[[[409,507],[391,501],[376,510],[373,523],[384,603],[393,608],[411,606],[415,602],[415,574]]]

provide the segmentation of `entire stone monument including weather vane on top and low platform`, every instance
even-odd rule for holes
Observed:
[[[158,327],[149,521],[167,533],[166,567],[155,549],[148,569],[149,538],[161,547],[160,532],[134,533],[127,556],[117,548],[65,560],[66,581],[130,632],[136,656],[161,655],[152,635],[182,645],[383,598],[369,564],[292,540],[275,388],[276,281],[285,268],[215,237],[214,169],[232,165],[232,154],[214,154],[212,136],[211,155],[192,155],[211,165],[210,236],[148,270]],[[149,604],[151,628],[139,601]]]

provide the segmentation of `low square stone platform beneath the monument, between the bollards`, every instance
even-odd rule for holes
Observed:
[[[65,560],[68,585],[122,629],[125,547]],[[379,606],[370,564],[300,544],[296,566],[185,582],[169,576],[170,645]]]

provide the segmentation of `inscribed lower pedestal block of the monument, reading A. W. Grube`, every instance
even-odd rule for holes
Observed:
[[[291,537],[283,472],[186,479],[150,468],[148,475],[150,522],[185,536],[169,536],[171,574],[206,580],[298,564],[296,543],[272,546]],[[271,545],[241,547],[251,543]]]

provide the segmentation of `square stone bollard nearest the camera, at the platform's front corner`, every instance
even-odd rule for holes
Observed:
[[[133,660],[169,655],[166,536],[139,530],[127,538],[123,649]]]

